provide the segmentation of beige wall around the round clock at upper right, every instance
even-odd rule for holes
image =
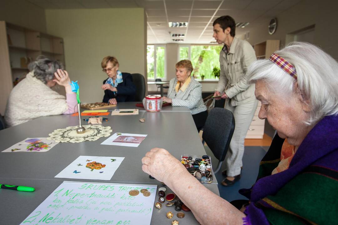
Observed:
[[[280,39],[281,45],[286,42],[286,34],[315,24],[314,43],[338,60],[338,26],[337,22],[338,1],[330,0],[303,0],[287,11],[276,15],[277,30],[269,35],[266,24],[252,28],[248,41],[251,45],[266,39]]]

